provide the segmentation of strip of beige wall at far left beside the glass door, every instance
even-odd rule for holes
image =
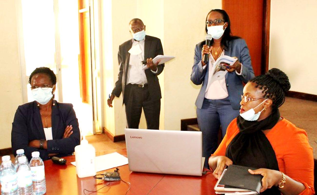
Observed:
[[[23,103],[16,3],[0,1],[0,149],[11,147],[16,108]]]

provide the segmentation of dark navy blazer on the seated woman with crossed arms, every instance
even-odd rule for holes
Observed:
[[[58,153],[58,156],[68,156],[74,152],[75,146],[80,144],[78,120],[72,104],[55,101],[52,106],[52,135],[53,140],[47,141],[47,150],[29,147],[29,141],[45,139],[45,133],[37,102],[32,101],[18,107],[11,131],[11,145],[13,154],[16,150],[24,149],[24,154],[30,160],[31,153],[40,152],[43,160],[49,159],[49,153]],[[73,126],[73,133],[68,138],[63,138],[66,126]]]

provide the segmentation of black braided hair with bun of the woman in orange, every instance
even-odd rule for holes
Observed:
[[[276,109],[285,101],[285,92],[291,88],[288,76],[277,68],[270,69],[265,75],[256,76],[250,79],[256,83],[256,88],[260,88],[264,98],[273,101],[272,107]]]

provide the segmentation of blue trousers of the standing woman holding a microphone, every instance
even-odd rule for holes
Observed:
[[[217,149],[218,130],[221,125],[222,137],[226,134],[230,122],[239,115],[239,110],[231,107],[229,97],[220,100],[204,98],[201,109],[197,108],[197,121],[203,133],[204,167],[209,168],[208,159]]]

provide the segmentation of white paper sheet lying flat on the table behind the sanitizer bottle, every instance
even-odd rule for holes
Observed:
[[[71,164],[76,166],[76,162],[71,162]],[[111,169],[113,167],[126,165],[128,164],[128,158],[117,152],[114,152],[110,154],[96,156],[95,164],[96,172],[100,172],[107,169]]]

